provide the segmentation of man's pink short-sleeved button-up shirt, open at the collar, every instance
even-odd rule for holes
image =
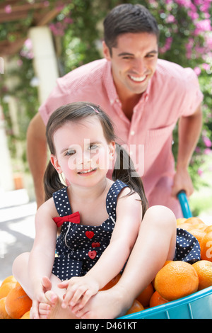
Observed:
[[[180,116],[192,115],[196,111],[202,99],[192,69],[158,60],[155,74],[135,106],[130,121],[117,96],[111,63],[102,59],[57,79],[57,86],[39,111],[46,124],[49,115],[66,103],[86,101],[98,104],[112,118],[119,143],[129,147],[150,205],[167,205],[177,212],[179,204],[169,196],[175,172],[172,130]]]

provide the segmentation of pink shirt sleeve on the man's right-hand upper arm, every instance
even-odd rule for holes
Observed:
[[[186,94],[184,97],[184,103],[182,105],[182,115],[192,115],[196,108],[203,101],[204,95],[201,92],[198,77],[191,68],[185,68],[185,89]]]

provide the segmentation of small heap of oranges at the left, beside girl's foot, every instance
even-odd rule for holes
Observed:
[[[30,319],[32,300],[13,276],[0,286],[0,319]]]

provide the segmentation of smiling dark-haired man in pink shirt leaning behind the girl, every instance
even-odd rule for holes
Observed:
[[[193,191],[187,171],[201,132],[203,96],[192,69],[158,59],[158,26],[141,5],[122,4],[105,18],[105,59],[86,64],[57,80],[28,128],[28,161],[37,205],[44,201],[45,125],[59,106],[74,101],[99,104],[116,125],[142,176],[149,205],[165,205],[177,218],[177,193]],[[175,171],[172,130],[179,120]]]

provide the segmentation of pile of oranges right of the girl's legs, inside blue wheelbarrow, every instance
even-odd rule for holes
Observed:
[[[187,230],[198,239],[201,260],[195,264],[166,261],[152,283],[136,298],[141,304],[139,311],[212,286],[212,225],[206,225],[200,218],[180,218],[177,219],[177,227]],[[126,314],[131,313],[131,310],[134,310],[134,304]]]

